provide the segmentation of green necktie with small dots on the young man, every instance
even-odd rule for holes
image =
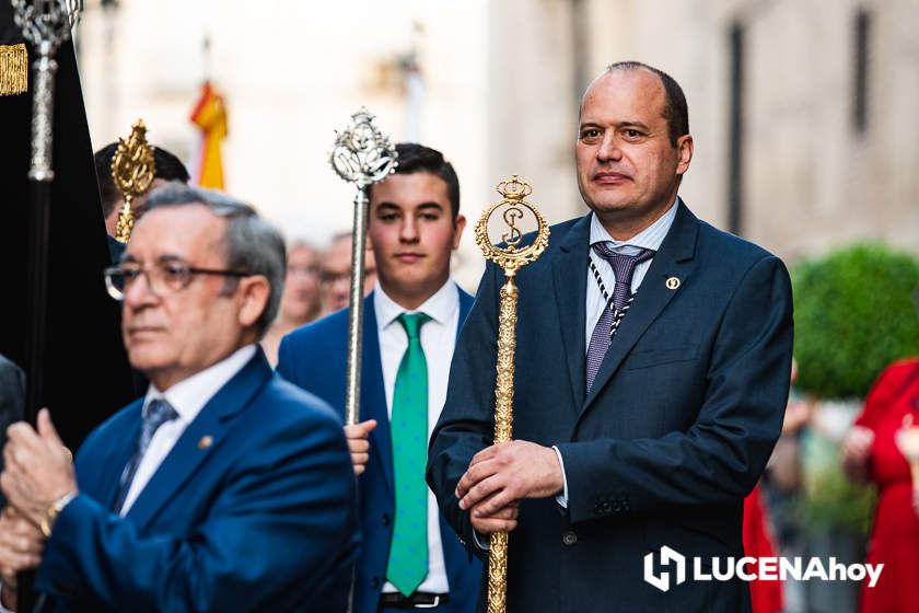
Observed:
[[[408,348],[396,373],[389,418],[396,520],[386,578],[409,595],[428,576],[428,361],[419,332],[431,317],[403,313],[397,319],[408,335]]]

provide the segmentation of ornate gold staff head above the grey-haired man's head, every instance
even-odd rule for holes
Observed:
[[[115,227],[115,240],[121,243],[131,240],[135,224],[131,203],[150,189],[154,174],[153,148],[147,142],[143,119],[138,119],[131,126],[131,136],[118,139],[118,149],[112,159],[112,181],[125,197],[125,206],[118,213],[118,224]]]

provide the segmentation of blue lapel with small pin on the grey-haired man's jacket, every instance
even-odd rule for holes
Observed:
[[[127,517],[137,525],[146,525],[155,513],[179,491],[201,462],[223,442],[226,430],[235,417],[261,386],[272,377],[271,367],[259,349],[243,369],[208,401],[175,447],[156,469],[141,490]],[[210,443],[199,444],[203,437]]]

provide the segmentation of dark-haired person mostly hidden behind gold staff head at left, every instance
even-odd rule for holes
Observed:
[[[112,178],[112,160],[118,151],[117,142],[109,142],[93,154],[95,163],[98,195],[102,201],[102,215],[105,218],[105,232],[108,234],[108,251],[112,264],[118,264],[125,253],[125,244],[115,240],[118,225],[118,215],[125,206],[125,198],[115,186]],[[171,181],[188,183],[188,169],[185,164],[162,147],[153,147],[153,183],[147,194],[131,201],[135,218],[140,219],[147,210],[147,197],[156,187],[162,187]]]

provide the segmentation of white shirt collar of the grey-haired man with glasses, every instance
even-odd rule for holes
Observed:
[[[179,419],[185,423],[193,421],[208,401],[252,359],[255,350],[255,345],[236,349],[229,357],[179,381],[165,392],[161,392],[151,383],[143,400],[143,414],[147,415],[151,401],[164,398],[178,414]]]

